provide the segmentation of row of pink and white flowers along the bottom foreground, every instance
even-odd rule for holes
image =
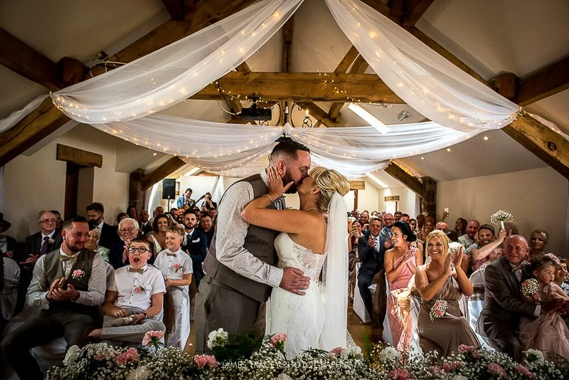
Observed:
[[[211,334],[218,352],[235,352],[233,339],[223,330]],[[153,346],[158,336],[149,334]],[[286,334],[262,339],[260,348],[239,359],[220,361],[213,355],[189,355],[177,347],[159,349],[116,348],[105,343],[70,347],[63,366],[53,367],[46,379],[566,379],[567,366],[544,359],[528,350],[523,363],[500,352],[460,346],[450,357],[437,360],[435,352],[414,355],[400,352],[387,344],[368,347],[364,356],[359,347],[336,347],[331,352],[309,349],[294,359],[282,354]],[[213,344],[212,344],[213,345]],[[155,348],[155,347],[153,347]]]

